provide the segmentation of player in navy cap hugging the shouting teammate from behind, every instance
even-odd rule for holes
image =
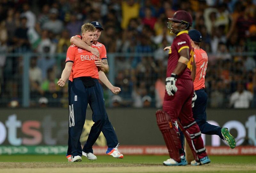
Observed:
[[[106,73],[109,71],[106,47],[102,43],[98,42],[101,32],[103,31],[103,28],[100,25],[100,22],[98,22],[98,21],[93,21],[93,22],[91,22],[91,24],[96,28],[93,46],[96,46],[99,49],[100,53],[98,52],[98,49],[88,46],[82,40],[82,37],[80,35],[71,37],[70,42],[72,44],[76,45],[77,47],[87,50],[87,51],[91,52],[92,54],[96,55],[98,58],[95,59],[96,61],[94,63],[96,64],[97,67],[99,67],[101,69],[101,71]],[[68,81],[68,94],[69,95],[70,95],[70,87],[69,86],[71,86],[71,84],[72,84],[72,72],[70,74],[69,81]],[[70,132],[70,128],[69,128],[69,132]],[[118,150],[119,143],[117,140],[116,132],[108,118],[107,118],[106,123],[103,125],[102,133],[105,136],[107,145],[108,145],[106,154],[112,155],[115,158],[123,158],[124,155],[121,154]],[[90,141],[90,138],[92,138],[92,135],[88,136],[89,141]],[[89,143],[87,143],[87,142],[84,144],[83,155],[85,157],[87,157],[89,160],[97,160],[97,157],[93,154],[92,146],[90,146],[88,144]],[[68,151],[67,151],[68,162],[71,161],[71,153],[72,153],[72,150],[71,150],[71,144],[70,144],[70,137],[68,137]]]

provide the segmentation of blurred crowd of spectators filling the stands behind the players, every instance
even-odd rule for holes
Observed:
[[[111,98],[105,93],[109,106],[160,108],[168,57],[163,49],[175,37],[166,23],[177,10],[190,12],[192,28],[202,33],[200,47],[209,58],[208,107],[256,107],[255,0],[1,0],[1,106],[3,100],[9,106],[21,102],[25,53],[38,53],[30,58],[31,106],[67,106],[67,87],[57,81],[70,37],[81,33],[83,23],[97,20],[107,53],[123,54],[110,67],[122,91]]]

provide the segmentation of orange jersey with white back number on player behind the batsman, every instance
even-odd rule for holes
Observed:
[[[204,89],[204,77],[206,74],[208,56],[203,49],[195,49],[195,62],[196,62],[196,78],[194,81],[194,90]]]

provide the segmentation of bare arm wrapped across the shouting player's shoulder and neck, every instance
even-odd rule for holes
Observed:
[[[82,39],[80,39],[77,36],[71,37],[70,38],[70,43],[76,45],[77,47],[80,47],[84,50],[87,50],[87,51],[91,52],[92,54],[94,54],[97,57],[100,57],[100,52],[99,52],[98,49],[92,48],[91,46],[86,44]]]

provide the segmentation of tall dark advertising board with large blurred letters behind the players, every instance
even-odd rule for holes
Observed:
[[[89,108],[90,109],[90,108]],[[82,145],[87,140],[92,122],[91,110],[81,135]],[[108,109],[118,141],[124,145],[163,146],[164,140],[156,124],[156,109]],[[227,127],[236,137],[237,146],[256,145],[256,110],[209,109],[208,122]],[[66,146],[68,141],[68,108],[1,109],[0,147],[2,146]],[[206,146],[225,146],[217,135],[202,135]],[[95,146],[106,146],[101,133]],[[105,151],[106,152],[106,151]]]

